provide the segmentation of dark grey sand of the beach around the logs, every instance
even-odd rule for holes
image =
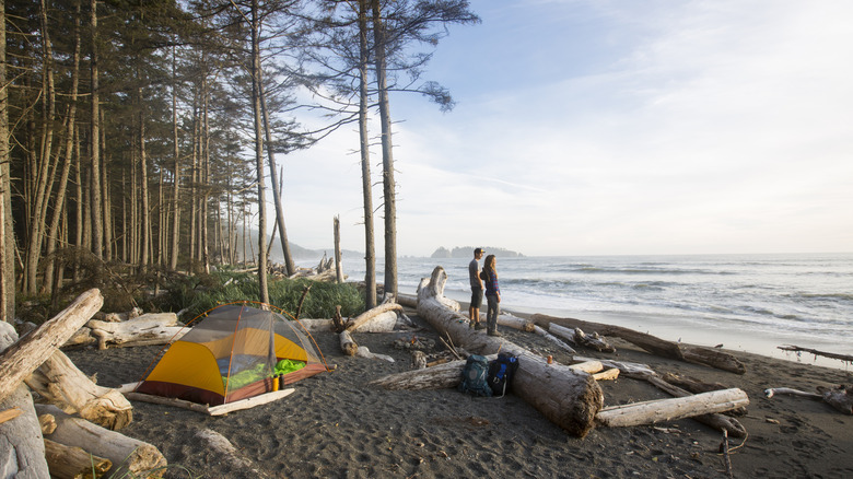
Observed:
[[[323,354],[337,370],[294,385],[280,401],[210,418],[172,407],[133,402],[135,420],[122,432],[154,444],[171,467],[167,478],[249,478],[211,453],[196,432],[210,429],[227,437],[257,467],[282,478],[725,478],[723,435],[690,419],[631,428],[594,429],[586,437],[568,435],[516,396],[475,398],[455,389],[388,392],[367,384],[411,367],[408,351],[394,340],[437,335],[409,312],[421,330],[357,334],[355,340],[394,362],[346,357],[337,336],[315,334]],[[570,357],[533,334],[501,327],[504,339],[534,352]],[[617,353],[579,351],[648,364],[744,389],[750,399],[738,420],[745,440],[729,439],[737,478],[853,477],[853,417],[830,406],[794,396],[764,397],[768,387],[815,392],[818,386],[850,384],[843,369],[815,366],[732,351],[747,366],[736,375],[706,366],[662,359],[615,339]],[[98,384],[139,381],[159,347],[71,350],[83,372]],[[600,383],[605,406],[668,397],[631,378]]]

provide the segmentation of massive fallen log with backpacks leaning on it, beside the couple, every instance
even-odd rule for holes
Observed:
[[[544,358],[517,344],[471,329],[468,319],[458,313],[458,303],[444,296],[446,282],[447,273],[442,267],[436,267],[431,278],[421,281],[418,288],[420,317],[468,351],[495,354],[502,350],[516,354],[519,360],[513,393],[570,434],[585,436],[604,402],[604,394],[595,379],[560,364],[548,364]],[[455,308],[447,306],[451,302],[456,303]]]

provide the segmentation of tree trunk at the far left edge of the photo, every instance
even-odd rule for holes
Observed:
[[[5,85],[5,0],[0,0],[0,84]],[[15,317],[12,182],[9,167],[9,91],[0,89],[0,320]]]

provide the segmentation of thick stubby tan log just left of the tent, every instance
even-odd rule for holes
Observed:
[[[133,407],[121,393],[93,383],[62,351],[48,358],[26,384],[65,412],[104,428],[119,430],[133,420]]]

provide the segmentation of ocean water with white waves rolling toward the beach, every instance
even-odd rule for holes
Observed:
[[[400,292],[414,294],[421,278],[442,266],[445,295],[468,301],[469,261],[400,258]],[[363,280],[363,262],[343,258],[343,268],[350,281]],[[496,270],[501,306],[510,312],[618,324],[674,341],[804,362],[814,357],[776,347],[853,354],[853,253],[498,257]],[[377,274],[381,282],[378,261]]]

